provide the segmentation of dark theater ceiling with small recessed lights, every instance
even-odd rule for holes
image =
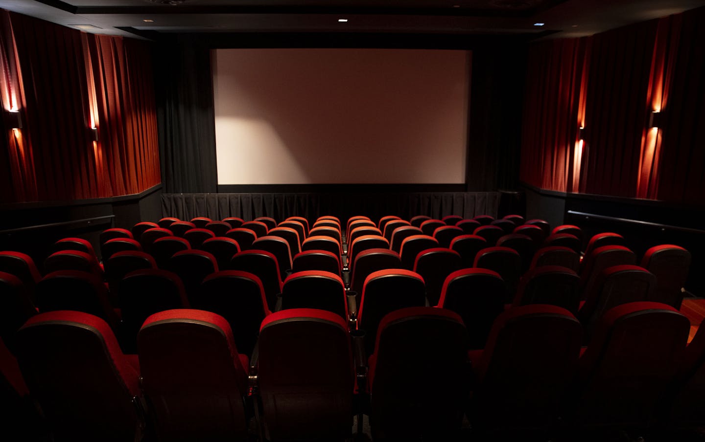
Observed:
[[[0,8],[86,32],[148,39],[257,32],[582,37],[704,5],[705,0],[0,0]]]

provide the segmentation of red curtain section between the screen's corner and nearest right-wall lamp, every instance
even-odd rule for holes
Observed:
[[[522,126],[522,181],[543,189],[572,187],[582,124],[587,39],[556,39],[529,49]]]

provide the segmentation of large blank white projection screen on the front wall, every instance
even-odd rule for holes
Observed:
[[[218,184],[462,184],[470,51],[215,49]]]

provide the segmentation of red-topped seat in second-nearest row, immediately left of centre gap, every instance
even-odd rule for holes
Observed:
[[[281,310],[290,308],[327,310],[348,320],[348,298],[343,279],[321,270],[290,274],[281,289]]]

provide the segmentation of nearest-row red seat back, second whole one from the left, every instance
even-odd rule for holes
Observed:
[[[247,357],[228,322],[202,310],[166,310],[137,336],[142,389],[160,441],[247,441]]]

